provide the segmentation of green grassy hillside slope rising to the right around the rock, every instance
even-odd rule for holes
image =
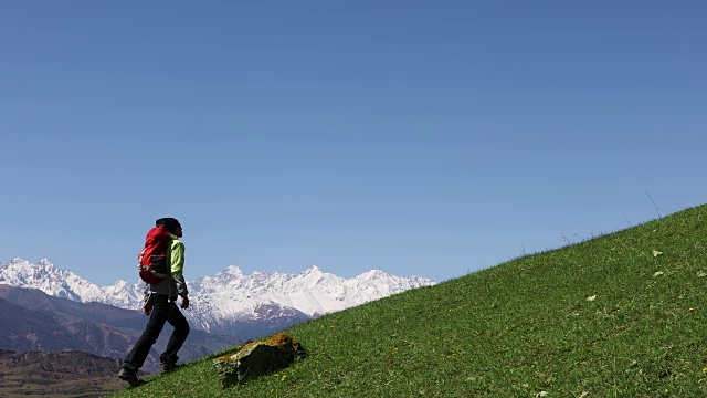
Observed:
[[[113,397],[705,397],[706,238],[690,208],[299,324],[308,358],[231,389],[238,347]]]

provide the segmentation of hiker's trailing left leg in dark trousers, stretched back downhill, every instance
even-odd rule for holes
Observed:
[[[137,373],[137,370],[143,367],[152,344],[157,342],[157,337],[159,337],[160,332],[162,332],[165,327],[165,322],[167,322],[170,316],[170,305],[175,305],[170,303],[168,296],[163,294],[152,294],[150,301],[152,302],[152,313],[150,314],[150,320],[147,322],[145,332],[143,332],[140,338],[135,343],[130,353],[125,357],[125,360],[123,360],[123,368],[128,371]]]

